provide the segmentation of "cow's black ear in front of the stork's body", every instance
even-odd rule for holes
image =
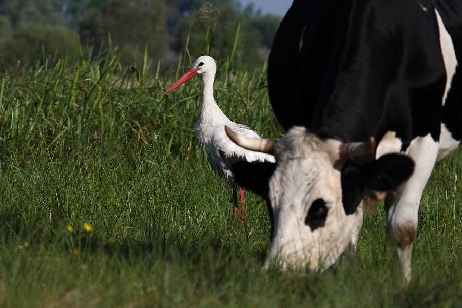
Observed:
[[[276,169],[276,163],[239,161],[231,166],[236,182],[268,201],[269,178]]]

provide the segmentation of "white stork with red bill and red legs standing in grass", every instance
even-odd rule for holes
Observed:
[[[237,185],[231,172],[231,164],[239,160],[275,162],[275,159],[272,155],[266,153],[244,149],[231,141],[226,135],[225,126],[228,126],[235,133],[242,136],[260,138],[255,131],[229,120],[218,107],[213,94],[216,71],[215,60],[206,55],[201,56],[165,93],[179,87],[196,74],[202,74],[200,111],[194,132],[197,140],[204,146],[208,154],[212,169],[233,188],[233,219],[237,219]],[[242,188],[239,187],[242,222],[245,220],[243,194]]]

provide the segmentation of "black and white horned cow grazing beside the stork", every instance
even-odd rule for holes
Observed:
[[[330,266],[356,246],[363,196],[388,193],[388,234],[411,278],[422,192],[462,140],[461,59],[460,0],[294,0],[268,66],[287,132],[257,144],[229,134],[277,161],[233,168],[268,200],[266,266]]]

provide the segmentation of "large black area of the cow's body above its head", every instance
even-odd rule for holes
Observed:
[[[345,142],[395,131],[406,148],[416,136],[438,140],[442,117],[462,139],[462,66],[441,110],[446,71],[433,13],[436,5],[460,63],[461,3],[294,0],[268,59],[276,118],[285,130],[303,125]]]

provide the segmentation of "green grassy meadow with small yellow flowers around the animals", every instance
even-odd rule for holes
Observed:
[[[164,95],[185,65],[121,67],[117,52],[0,72],[0,307],[462,307],[462,150],[438,162],[403,281],[383,205],[354,264],[262,271],[265,202],[245,225],[192,127],[200,80]],[[266,67],[218,59],[228,117],[278,138]]]

